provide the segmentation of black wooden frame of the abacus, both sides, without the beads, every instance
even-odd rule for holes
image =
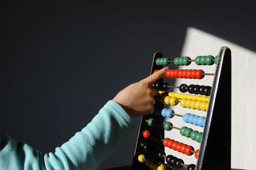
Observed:
[[[162,66],[156,65],[156,59],[162,58],[161,53],[155,53],[151,67],[151,74]],[[163,78],[158,81],[163,82]],[[156,103],[155,109],[163,108],[164,104]],[[145,141],[142,136],[143,130],[157,132],[164,139],[164,130],[159,130],[147,125],[146,120],[154,118],[164,121],[164,117],[157,115],[145,115],[141,117],[141,123],[136,142],[136,148],[133,158],[133,170],[150,169],[145,163],[138,161],[140,154],[146,154],[147,158],[155,160],[154,156],[146,153],[141,145]],[[151,143],[150,141],[147,141]],[[164,151],[164,146],[160,143],[152,144]],[[175,167],[164,164],[166,169],[175,169]],[[196,169],[231,169],[231,50],[227,47],[221,47],[219,58],[216,65],[214,82],[210,95],[209,107],[206,115],[206,121],[200,144],[199,156],[196,163]],[[186,169],[185,167],[179,169]]]

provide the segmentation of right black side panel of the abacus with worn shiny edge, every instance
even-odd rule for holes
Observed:
[[[231,50],[227,47],[220,49],[196,169],[231,169]]]

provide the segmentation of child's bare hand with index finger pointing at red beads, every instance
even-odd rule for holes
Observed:
[[[152,88],[151,85],[155,83],[156,80],[163,77],[167,69],[169,68],[164,67],[149,77],[129,85],[120,91],[113,101],[120,104],[130,117],[152,113],[154,111],[153,105],[156,102],[154,96],[159,93],[158,90]]]

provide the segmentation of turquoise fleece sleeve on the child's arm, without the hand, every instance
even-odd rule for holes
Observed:
[[[109,101],[55,153],[43,155],[8,135],[0,137],[0,169],[97,169],[132,131],[130,116],[118,103]]]

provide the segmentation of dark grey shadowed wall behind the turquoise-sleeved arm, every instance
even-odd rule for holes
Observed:
[[[68,141],[117,92],[180,56],[189,26],[256,51],[256,12],[228,2],[1,2],[0,135],[43,153]],[[132,164],[135,132],[99,168]]]

